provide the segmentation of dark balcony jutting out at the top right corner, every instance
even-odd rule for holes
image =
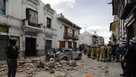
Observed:
[[[136,0],[125,0],[124,8],[123,11],[121,12],[121,19],[126,19],[128,17],[134,5],[136,5]]]

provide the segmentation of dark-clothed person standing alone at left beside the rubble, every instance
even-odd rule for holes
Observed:
[[[6,55],[8,64],[8,77],[15,77],[18,57],[18,48],[16,46],[15,39],[9,39],[9,46],[7,48]]]

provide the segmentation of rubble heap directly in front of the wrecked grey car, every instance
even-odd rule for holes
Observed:
[[[77,63],[75,60],[70,61],[57,61],[55,62],[53,59],[51,59],[48,63],[45,65],[46,71],[49,71],[50,73],[54,73],[55,71],[74,71],[77,69]]]

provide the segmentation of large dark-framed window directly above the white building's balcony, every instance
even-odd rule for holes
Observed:
[[[38,26],[38,12],[30,8],[26,9],[26,19],[31,26]]]

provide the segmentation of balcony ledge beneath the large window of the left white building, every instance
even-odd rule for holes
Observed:
[[[33,24],[30,24],[29,22],[28,22],[28,20],[23,20],[23,29],[24,29],[24,31],[27,31],[27,32],[42,32],[42,27],[41,27],[41,25],[42,24],[35,24],[35,25],[33,25]]]

